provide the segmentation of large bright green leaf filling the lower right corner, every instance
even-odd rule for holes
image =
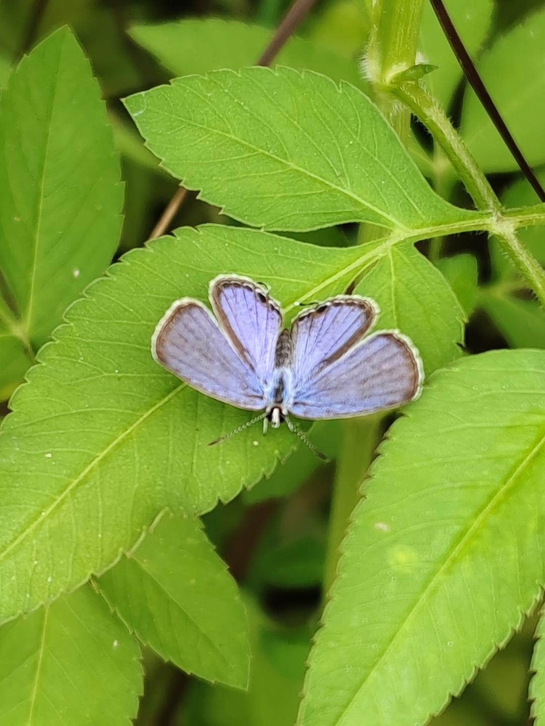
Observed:
[[[405,410],[342,545],[302,726],[424,724],[541,596],[545,352],[456,361]]]

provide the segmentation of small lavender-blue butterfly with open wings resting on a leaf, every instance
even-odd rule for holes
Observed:
[[[363,416],[421,392],[423,367],[412,341],[397,330],[368,335],[379,315],[371,298],[336,295],[304,309],[291,327],[283,326],[280,303],[249,277],[215,277],[209,300],[214,314],[193,298],[174,301],[158,322],[151,351],[206,396],[262,412],[232,433],[260,419],[264,432],[269,421],[292,428],[290,414]]]

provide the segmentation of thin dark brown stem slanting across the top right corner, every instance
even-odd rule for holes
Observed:
[[[483,104],[486,113],[488,113],[488,115],[490,116],[492,123],[494,124],[494,126],[496,126],[496,129],[498,129],[501,138],[504,139],[506,147],[512,153],[514,160],[520,166],[522,173],[532,185],[533,190],[536,192],[539,199],[542,202],[545,202],[545,191],[543,187],[541,187],[541,184],[539,183],[536,175],[533,173],[530,165],[522,155],[522,152],[517,146],[517,142],[515,142],[515,140],[513,139],[511,132],[509,131],[504,122],[504,119],[501,118],[501,115],[496,108],[496,104],[493,102],[490,94],[486,90],[485,84],[483,83],[482,78],[479,76],[477,68],[475,68],[475,63],[469,57],[469,53],[465,49],[464,44],[462,43],[460,36],[456,32],[456,28],[454,28],[452,20],[449,17],[445,6],[443,5],[443,0],[429,1],[431,2],[433,9],[435,10],[437,20],[439,20],[448,42],[451,44],[453,53],[456,55],[456,58],[461,65],[461,70],[464,71],[464,75],[466,76],[469,83],[472,85],[473,90],[477,94],[477,98]]]

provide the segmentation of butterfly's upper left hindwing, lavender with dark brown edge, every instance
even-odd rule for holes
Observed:
[[[220,275],[210,283],[210,299],[225,335],[265,383],[273,373],[282,327],[278,303],[253,280]]]

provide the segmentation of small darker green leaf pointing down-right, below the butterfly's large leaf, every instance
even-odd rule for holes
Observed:
[[[131,632],[186,673],[248,686],[248,622],[237,586],[193,518],[166,517],[97,582]]]

